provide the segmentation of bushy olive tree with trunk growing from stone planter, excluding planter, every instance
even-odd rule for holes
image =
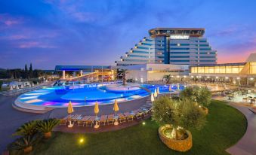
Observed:
[[[153,102],[153,120],[160,125],[171,124],[171,138],[177,138],[177,129],[201,129],[205,125],[205,114],[196,102],[190,99],[172,100],[161,96]]]

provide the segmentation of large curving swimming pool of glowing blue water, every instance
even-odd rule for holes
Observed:
[[[140,99],[149,96],[146,90],[138,87],[147,88],[152,93],[159,87],[160,93],[169,93],[169,85],[137,85],[137,89],[110,90],[111,84],[78,84],[61,87],[45,87],[40,90],[24,93],[18,97],[18,101],[28,105],[38,105],[53,108],[66,107],[69,101],[75,107],[90,106],[98,102],[99,105],[112,104],[115,99],[118,102],[125,102],[133,99]],[[177,85],[171,85],[172,91],[177,90]],[[180,85],[180,90],[184,86]]]

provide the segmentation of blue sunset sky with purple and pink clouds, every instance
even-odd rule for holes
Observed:
[[[2,0],[0,68],[114,65],[156,27],[205,28],[217,63],[256,53],[254,0]]]

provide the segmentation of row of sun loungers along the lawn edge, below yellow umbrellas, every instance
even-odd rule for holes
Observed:
[[[82,116],[82,114],[67,115],[60,119],[60,125],[66,126],[69,120],[72,123],[77,123],[78,126],[93,126],[94,123],[98,123],[101,126],[113,125],[115,120],[118,120],[119,123],[125,123],[126,121],[131,122],[134,119],[140,120],[143,117],[147,117],[152,111],[152,103],[147,102],[137,110],[125,113],[119,113],[117,116],[114,114],[101,115],[100,117],[96,116]]]

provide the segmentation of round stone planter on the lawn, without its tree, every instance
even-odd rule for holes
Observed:
[[[165,129],[170,129],[170,128],[172,128],[171,125],[165,125],[165,126],[159,127],[159,137],[161,141],[172,150],[177,150],[180,152],[185,152],[187,150],[190,150],[190,148],[193,145],[191,132],[186,130],[188,137],[184,140],[176,140],[176,139],[168,138],[163,134]]]

